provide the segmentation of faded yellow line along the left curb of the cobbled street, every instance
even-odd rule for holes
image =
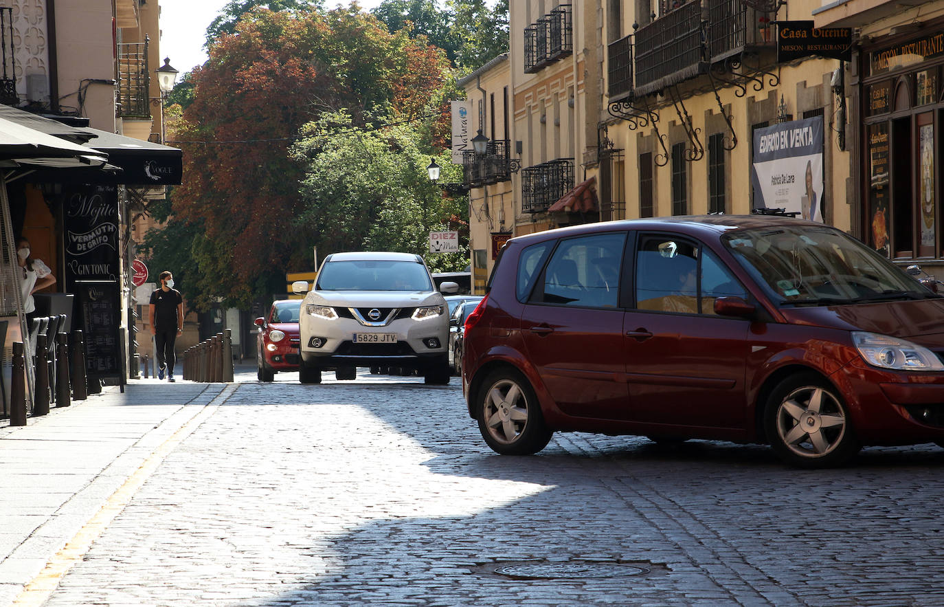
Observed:
[[[92,548],[93,542],[108,529],[112,519],[121,513],[134,497],[144,481],[157,469],[164,458],[183,442],[203,421],[210,416],[215,407],[227,400],[236,390],[237,385],[230,383],[223,391],[196,413],[186,424],[181,426],[167,440],[160,444],[143,464],[127,478],[111,496],[105,501],[102,508],[73,536],[66,545],[56,553],[45,568],[28,582],[20,595],[12,602],[11,607],[39,607],[53,594],[59,586],[62,577],[69,569],[82,560],[82,557]]]

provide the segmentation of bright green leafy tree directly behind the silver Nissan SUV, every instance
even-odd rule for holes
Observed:
[[[298,225],[314,226],[319,254],[351,250],[419,253],[433,271],[461,271],[468,263],[467,196],[445,196],[430,182],[430,154],[420,144],[422,126],[407,123],[355,128],[349,115],[323,116],[294,148],[305,163],[304,210]],[[443,179],[461,180],[461,169],[440,155]],[[458,229],[463,250],[429,254],[429,233]]]

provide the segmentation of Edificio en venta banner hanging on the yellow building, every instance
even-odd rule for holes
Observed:
[[[753,143],[754,208],[784,209],[822,221],[822,116],[758,128]]]

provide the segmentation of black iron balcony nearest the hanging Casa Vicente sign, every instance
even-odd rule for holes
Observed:
[[[745,0],[707,0],[708,57],[717,63],[745,51],[775,48],[777,32],[770,13]]]

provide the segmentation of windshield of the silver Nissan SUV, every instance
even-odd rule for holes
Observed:
[[[329,261],[316,291],[433,291],[430,273],[416,261]]]

